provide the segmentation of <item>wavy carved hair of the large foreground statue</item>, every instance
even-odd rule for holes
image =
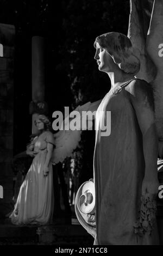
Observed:
[[[124,72],[133,75],[139,72],[140,60],[136,57],[136,49],[133,48],[126,35],[110,32],[97,36],[94,43],[95,48],[97,42]]]

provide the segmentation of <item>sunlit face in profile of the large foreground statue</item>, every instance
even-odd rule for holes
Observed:
[[[97,60],[98,69],[103,72],[114,72],[117,69],[117,65],[111,58],[108,52],[102,48],[98,42],[96,43],[96,54],[94,57]]]

